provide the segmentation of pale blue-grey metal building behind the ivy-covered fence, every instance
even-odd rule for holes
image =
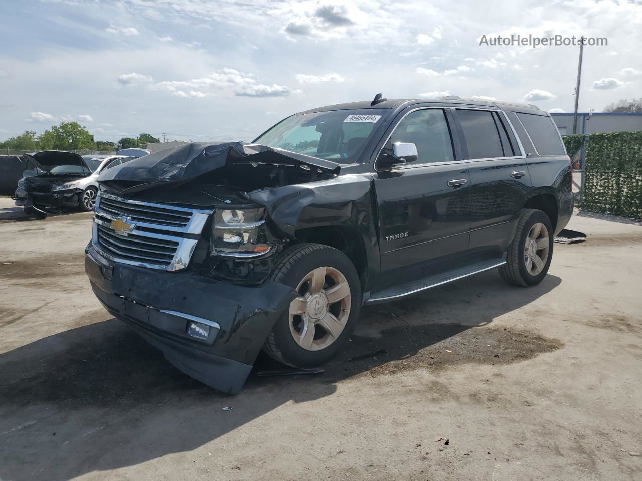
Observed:
[[[573,133],[573,112],[551,114],[561,135]],[[578,112],[577,133],[642,131],[642,114],[630,112]]]

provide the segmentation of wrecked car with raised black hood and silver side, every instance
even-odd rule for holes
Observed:
[[[100,173],[133,157],[44,150],[26,154],[25,158],[31,170],[24,171],[13,199],[26,214],[44,218],[52,209],[58,212],[65,208],[93,210]]]

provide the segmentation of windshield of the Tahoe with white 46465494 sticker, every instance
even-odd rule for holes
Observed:
[[[355,162],[386,111],[360,108],[293,115],[254,143],[334,162]]]

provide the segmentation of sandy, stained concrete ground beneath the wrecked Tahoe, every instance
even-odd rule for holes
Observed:
[[[573,217],[587,240],[555,244],[540,285],[490,271],[364,308],[325,373],[253,375],[225,396],[94,299],[91,214],[10,207],[0,199],[0,480],[642,478],[638,225]]]

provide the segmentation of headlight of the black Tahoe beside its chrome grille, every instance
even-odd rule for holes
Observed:
[[[270,250],[265,208],[214,211],[210,253],[232,257],[256,257]]]

